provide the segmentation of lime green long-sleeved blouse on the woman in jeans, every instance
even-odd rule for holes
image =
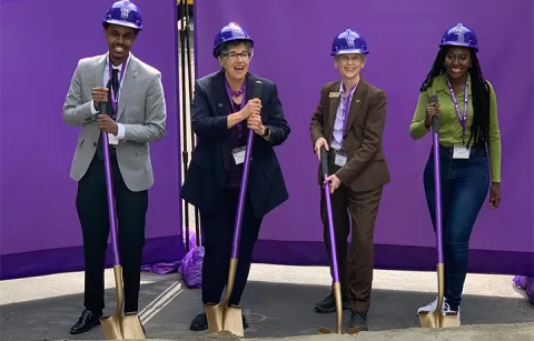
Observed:
[[[436,93],[439,100],[439,143],[445,147],[453,147],[456,143],[462,143],[462,124],[458,116],[454,109],[454,103],[451,92],[447,87],[446,74],[441,74],[434,79],[432,86],[421,92],[415,109],[414,118],[409,124],[409,134],[412,139],[422,139],[431,129],[425,127],[426,106],[429,102],[431,94]],[[468,107],[467,107],[467,124],[465,127],[465,142],[469,140],[471,124],[473,123],[473,99],[471,93],[471,77],[467,76],[469,84],[467,87]],[[490,132],[487,149],[490,153],[490,167],[492,170],[492,181],[501,182],[501,131],[498,129],[497,119],[497,99],[493,86],[490,86]],[[464,91],[455,93],[459,106],[459,111],[464,116]]]

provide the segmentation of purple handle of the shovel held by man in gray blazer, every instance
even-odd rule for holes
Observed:
[[[107,113],[106,103],[99,103],[100,113]],[[113,179],[111,177],[111,164],[109,161],[109,140],[108,133],[103,130],[102,134],[102,150],[103,150],[103,169],[106,172],[106,192],[108,195],[108,215],[109,215],[109,232],[111,233],[111,249],[113,250],[115,265],[120,265],[119,258],[119,243],[117,242],[117,213],[115,211],[115,193],[113,193]]]

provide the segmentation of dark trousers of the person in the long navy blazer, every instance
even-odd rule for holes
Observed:
[[[202,303],[218,303],[228,279],[228,267],[231,255],[234,224],[237,215],[239,188],[225,190],[224,201],[215,214],[202,214],[204,262],[202,262]],[[258,240],[261,219],[254,215],[248,195],[245,200],[239,255],[236,279],[229,304],[238,305],[248,273],[254,245]]]

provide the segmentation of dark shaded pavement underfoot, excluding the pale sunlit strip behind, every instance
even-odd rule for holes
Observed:
[[[335,330],[335,314],[318,314],[313,309],[328,290],[326,285],[249,282],[241,302],[250,323],[245,337],[270,339],[314,335],[319,327]],[[417,328],[417,307],[428,303],[434,297],[433,293],[422,292],[374,291],[369,330]],[[82,294],[76,294],[1,305],[1,339],[102,340],[100,327],[83,334],[69,334],[70,327],[81,312],[82,300]],[[106,313],[111,313],[115,290],[106,292]],[[464,325],[534,322],[534,308],[523,298],[465,295],[463,307]],[[191,319],[202,309],[200,290],[187,289],[176,273],[158,277],[157,282],[144,284],[139,308],[141,318],[148,319],[146,328],[149,339],[182,340],[207,334],[205,331],[189,331]],[[348,318],[349,313],[345,311],[345,328]]]

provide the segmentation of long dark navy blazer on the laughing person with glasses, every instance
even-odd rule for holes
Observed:
[[[270,129],[270,141],[254,134],[247,192],[255,215],[261,219],[289,198],[274,147],[284,143],[291,130],[284,117],[278,89],[273,81],[247,73],[244,100],[248,102],[254,96],[254,83],[257,80],[263,83],[261,122]],[[234,162],[228,147],[229,112],[222,71],[208,74],[195,82],[191,127],[197,134],[197,146],[186,171],[181,198],[197,207],[201,213],[216,212],[224,200],[228,164]],[[244,123],[246,124],[246,121]],[[248,133],[248,130],[246,131]]]

